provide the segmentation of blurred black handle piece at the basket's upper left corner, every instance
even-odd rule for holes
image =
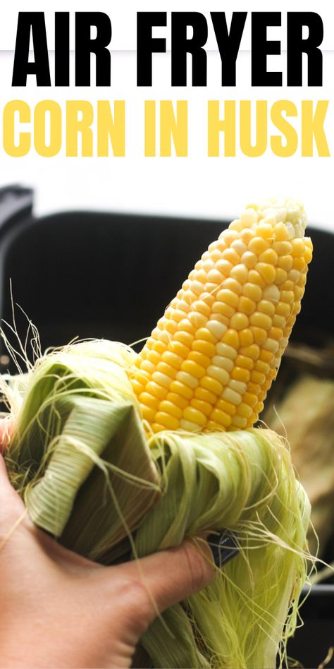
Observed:
[[[0,234],[8,224],[31,217],[33,201],[31,188],[16,185],[0,188]]]

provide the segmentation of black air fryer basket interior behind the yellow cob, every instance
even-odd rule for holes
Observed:
[[[16,210],[17,193],[11,200]],[[2,208],[8,221],[8,202]],[[219,221],[97,212],[37,219],[26,207],[20,213],[0,230],[0,314],[13,322],[11,279],[13,299],[37,325],[42,349],[76,336],[128,344],[147,337],[194,263],[226,227]],[[293,331],[294,339],[307,336],[309,343],[318,338],[318,323],[331,331],[334,305],[333,291],[323,292],[333,236],[319,230],[310,234],[314,260]],[[26,321],[18,310],[16,323],[24,338]]]

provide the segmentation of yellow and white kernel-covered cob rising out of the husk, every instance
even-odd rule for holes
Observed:
[[[249,205],[202,255],[135,362],[132,386],[154,432],[257,421],[300,311],[306,222],[291,200]]]

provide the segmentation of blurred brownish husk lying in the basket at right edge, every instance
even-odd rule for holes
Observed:
[[[292,462],[311,502],[321,556],[334,527],[334,344],[321,350],[288,346],[261,418],[290,443]],[[315,551],[313,531],[309,543]]]

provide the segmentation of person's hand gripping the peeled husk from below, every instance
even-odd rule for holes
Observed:
[[[190,540],[115,567],[66,550],[32,524],[0,454],[2,668],[130,667],[157,612],[209,584],[211,563]]]

